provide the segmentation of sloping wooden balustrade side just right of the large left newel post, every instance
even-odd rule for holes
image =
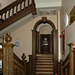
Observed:
[[[20,60],[18,56],[13,54],[13,73],[14,75],[26,75],[26,62]]]

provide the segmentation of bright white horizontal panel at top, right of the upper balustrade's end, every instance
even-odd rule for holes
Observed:
[[[61,6],[61,0],[35,0],[37,8]]]

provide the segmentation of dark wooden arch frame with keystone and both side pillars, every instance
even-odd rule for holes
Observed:
[[[33,55],[33,59],[36,59],[36,53],[37,53],[37,35],[39,34],[39,32],[37,32],[37,27],[41,24],[41,23],[48,23],[51,27],[52,27],[52,36],[53,36],[53,54],[54,54],[54,70],[57,70],[57,60],[58,60],[58,51],[57,51],[57,47],[58,47],[58,31],[56,30],[56,27],[54,25],[54,23],[50,20],[47,19],[47,17],[42,17],[41,20],[37,21],[36,24],[34,25],[34,28],[32,30],[32,55]],[[34,62],[34,69],[35,69],[35,60],[33,60]],[[35,71],[33,72],[33,74],[35,73]]]

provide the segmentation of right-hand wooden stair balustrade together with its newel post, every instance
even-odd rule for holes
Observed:
[[[61,62],[61,75],[75,75],[75,44],[70,43],[69,54],[66,59]]]

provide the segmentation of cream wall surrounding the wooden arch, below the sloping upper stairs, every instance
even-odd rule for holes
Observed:
[[[57,28],[57,15],[54,16],[48,15],[44,17],[47,17],[47,19],[51,20],[55,24],[55,27]],[[16,40],[18,40],[21,43],[19,48],[16,47],[14,48],[14,52],[20,58],[22,53],[25,53],[26,59],[28,60],[28,55],[32,54],[32,29],[35,23],[40,19],[42,19],[42,16],[38,16],[37,18],[31,20],[26,24],[21,22],[24,25],[11,33],[11,36],[13,38],[12,43],[14,43]]]

